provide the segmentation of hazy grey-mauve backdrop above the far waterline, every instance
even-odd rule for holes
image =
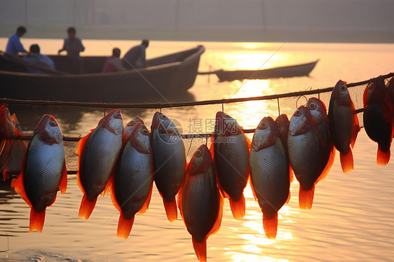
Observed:
[[[393,0],[0,0],[0,37],[394,43]]]

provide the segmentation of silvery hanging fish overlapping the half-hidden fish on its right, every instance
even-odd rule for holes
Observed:
[[[290,163],[299,181],[299,207],[311,209],[315,182],[322,174],[322,148],[325,146],[318,128],[312,124],[308,108],[300,106],[290,119],[287,147]]]

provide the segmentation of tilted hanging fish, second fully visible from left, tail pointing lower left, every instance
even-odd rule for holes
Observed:
[[[83,193],[79,217],[88,219],[97,196],[107,193],[107,182],[122,146],[123,118],[120,109],[104,116],[94,130],[79,140],[76,180]]]

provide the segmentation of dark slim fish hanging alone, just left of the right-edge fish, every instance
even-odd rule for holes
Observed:
[[[328,121],[332,141],[340,153],[342,171],[349,172],[354,169],[352,149],[360,131],[360,125],[344,81],[339,80],[332,90]]]

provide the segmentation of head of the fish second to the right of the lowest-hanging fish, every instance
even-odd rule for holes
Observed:
[[[276,127],[276,123],[271,116],[264,117],[261,119],[259,125],[257,125],[256,131],[254,132],[252,148],[254,151],[259,151],[261,149],[266,149],[269,146],[273,146],[279,135],[278,127]]]

